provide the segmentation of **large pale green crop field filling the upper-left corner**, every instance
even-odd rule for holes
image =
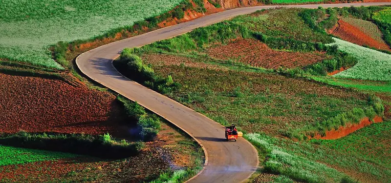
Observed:
[[[3,0],[0,59],[63,69],[49,45],[90,39],[169,11],[182,0]]]

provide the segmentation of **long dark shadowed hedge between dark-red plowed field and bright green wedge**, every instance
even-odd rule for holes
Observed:
[[[112,139],[109,134],[92,136],[27,132],[2,134],[0,135],[0,144],[95,156],[104,159],[122,159],[135,156],[144,147],[141,142],[117,141]]]

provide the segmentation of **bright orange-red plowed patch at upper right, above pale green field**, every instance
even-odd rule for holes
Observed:
[[[374,40],[360,29],[354,27],[348,22],[345,22],[344,20],[338,20],[338,26],[336,26],[332,34],[345,41],[349,41],[358,45],[367,45],[369,47],[391,51],[387,44]]]

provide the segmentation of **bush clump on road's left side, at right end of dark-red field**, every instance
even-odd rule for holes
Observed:
[[[160,130],[160,118],[155,114],[145,111],[145,108],[137,102],[132,102],[125,97],[118,96],[117,99],[123,103],[126,114],[132,119],[130,122],[137,122],[131,135],[134,138],[141,138],[143,141],[153,141]]]

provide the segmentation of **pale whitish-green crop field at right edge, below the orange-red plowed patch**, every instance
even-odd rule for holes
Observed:
[[[348,41],[333,38],[338,49],[356,57],[353,67],[335,74],[337,78],[352,78],[372,81],[391,81],[391,55],[372,50]]]

